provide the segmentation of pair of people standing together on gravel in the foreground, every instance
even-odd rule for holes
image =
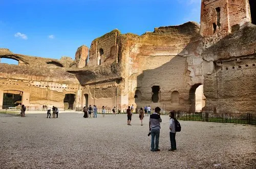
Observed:
[[[159,149],[159,136],[160,136],[160,123],[162,122],[162,119],[160,117],[160,107],[155,108],[155,112],[150,115],[150,132],[151,132],[151,151],[160,151]],[[176,150],[176,131],[175,131],[175,117],[174,112],[170,112],[169,114],[170,120],[169,120],[169,130],[170,130],[170,149],[169,151]]]

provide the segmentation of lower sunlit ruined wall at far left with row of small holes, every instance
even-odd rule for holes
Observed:
[[[0,57],[8,58],[6,53],[1,54]],[[11,54],[12,57],[19,57],[14,53],[9,52],[8,54]],[[22,58],[28,60],[26,55],[22,55]],[[61,60],[67,61],[68,58],[61,58]],[[44,60],[41,61],[45,63]],[[28,65],[0,64],[1,108],[4,93],[20,91],[22,93],[22,104],[28,107],[41,107],[44,104],[48,106],[55,105],[64,109],[65,95],[77,95],[80,86],[76,76],[68,73],[67,69],[69,68],[35,66],[33,63]],[[78,103],[75,102],[74,105],[76,106],[76,104]]]

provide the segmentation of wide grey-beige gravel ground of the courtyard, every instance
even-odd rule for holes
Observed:
[[[63,112],[58,119],[30,112],[0,114],[0,168],[255,168],[256,128],[242,124],[180,121],[177,151],[169,152],[168,116],[159,148],[151,152],[148,117]]]

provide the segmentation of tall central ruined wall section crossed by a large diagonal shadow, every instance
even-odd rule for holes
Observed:
[[[189,90],[203,83],[199,26],[188,22],[156,28],[142,36],[118,37],[126,105],[152,105],[168,109],[189,109]],[[152,87],[159,86],[159,100],[152,100]],[[179,101],[172,100],[178,92]],[[135,98],[136,97],[136,98]],[[137,98],[138,97],[138,98]],[[123,106],[126,106],[123,105]]]

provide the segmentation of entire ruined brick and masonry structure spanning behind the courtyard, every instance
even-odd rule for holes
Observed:
[[[80,46],[75,61],[30,57],[0,49],[0,105],[75,108],[96,104],[122,110],[166,107],[208,112],[256,109],[255,1],[204,0],[201,26],[187,22],[138,36],[118,30]],[[202,88],[203,85],[203,88]]]

